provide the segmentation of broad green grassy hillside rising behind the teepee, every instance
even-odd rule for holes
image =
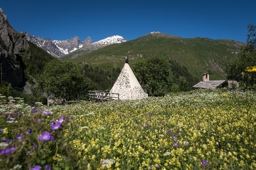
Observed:
[[[72,60],[110,70],[113,67],[122,68],[124,57],[128,55],[131,66],[134,60],[157,56],[185,66],[196,78],[201,79],[204,72],[209,72],[211,80],[223,80],[225,65],[239,55],[242,46],[243,43],[234,40],[199,37],[185,39],[154,33],[121,44],[105,46]]]

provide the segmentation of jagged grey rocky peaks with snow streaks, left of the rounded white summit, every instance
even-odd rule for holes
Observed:
[[[33,42],[56,58],[61,58],[63,55],[92,44],[91,37],[87,37],[85,41],[81,42],[77,36],[66,40],[51,40],[49,38],[35,37],[28,33],[25,33],[25,35],[28,41]]]

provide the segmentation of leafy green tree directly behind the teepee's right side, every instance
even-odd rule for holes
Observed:
[[[160,57],[138,60],[132,64],[134,74],[141,86],[153,96],[162,96],[171,85],[169,64]]]

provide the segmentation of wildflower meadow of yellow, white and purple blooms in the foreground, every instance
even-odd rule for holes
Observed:
[[[3,170],[256,169],[256,92],[28,106],[0,96]]]

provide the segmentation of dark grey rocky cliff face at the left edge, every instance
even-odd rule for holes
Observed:
[[[7,21],[7,16],[0,8],[0,62],[2,63],[2,80],[13,87],[22,87],[25,77],[21,69],[22,49],[28,48],[24,33],[16,32]]]

